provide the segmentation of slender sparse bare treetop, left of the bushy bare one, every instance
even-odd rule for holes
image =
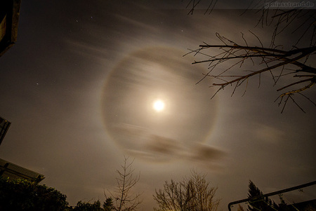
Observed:
[[[121,165],[121,171],[117,170],[117,187],[114,191],[109,191],[114,199],[114,203],[105,194],[107,198],[105,203],[112,203],[112,206],[108,208],[112,208],[115,211],[133,211],[142,203],[142,200],[140,200],[141,194],[132,192],[132,189],[140,179],[140,174],[133,175],[133,161],[129,162],[128,160],[129,158],[124,157],[124,164]]]

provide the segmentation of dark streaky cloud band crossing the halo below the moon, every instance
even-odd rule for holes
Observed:
[[[225,151],[211,145],[199,142],[188,144],[137,125],[121,123],[115,125],[115,130],[119,134],[116,139],[127,154],[147,161],[182,159],[215,166],[226,155]]]

